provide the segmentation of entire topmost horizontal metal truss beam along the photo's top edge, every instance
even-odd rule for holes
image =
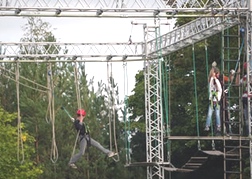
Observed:
[[[248,11],[248,0],[1,0],[0,16],[159,18],[210,16],[214,11]],[[204,14],[204,15],[202,15]],[[197,16],[196,16],[197,17]]]

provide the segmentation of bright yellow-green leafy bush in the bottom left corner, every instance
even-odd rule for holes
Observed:
[[[16,118],[16,114],[9,114],[0,108],[0,178],[37,178],[42,170],[32,159],[34,138],[24,131],[20,136],[23,148],[17,147],[17,126],[13,125]]]

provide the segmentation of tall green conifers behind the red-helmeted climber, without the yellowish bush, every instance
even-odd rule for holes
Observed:
[[[50,25],[39,18],[28,18],[24,31],[22,42],[56,41],[50,31]],[[48,48],[46,45],[43,48],[26,46],[21,49],[20,53],[43,54],[46,51],[46,53],[57,54],[60,50],[60,47]],[[74,143],[77,133],[69,116],[61,110],[61,107],[65,107],[74,117],[78,108],[77,84],[80,92],[78,100],[81,101],[81,107],[87,111],[86,120],[92,137],[106,148],[110,147],[108,114],[112,109],[115,110],[113,121],[116,122],[116,126],[112,135],[117,140],[119,155],[124,156],[125,154],[121,136],[122,129],[120,128],[122,125],[119,123],[115,108],[118,104],[118,86],[112,77],[109,85],[110,89],[114,90],[114,94],[107,90],[107,86],[102,82],[98,84],[98,91],[94,91],[94,84],[89,83],[86,79],[85,63],[33,62],[27,65],[22,63],[22,59],[19,60],[20,63],[3,64],[6,71],[1,73],[1,103],[5,109],[12,112],[17,111],[19,104],[22,122],[29,134],[34,137],[35,145],[30,147],[35,146],[35,153],[32,153],[31,157],[43,171],[37,178],[85,177],[100,179],[102,177],[111,178],[115,173],[118,173],[118,177],[125,179],[129,176],[131,178],[141,176],[141,174],[135,175],[134,172],[137,173],[138,170],[125,170],[123,157],[120,158],[121,162],[115,163],[93,148],[88,149],[83,160],[78,161],[79,172],[68,167],[73,150],[78,150]],[[17,71],[19,71],[19,89],[17,89],[18,83],[14,80]],[[79,76],[77,82],[75,81],[76,71]],[[103,92],[100,93],[99,90]],[[13,95],[13,91],[20,93],[19,100],[17,99],[18,93]],[[115,144],[112,147],[114,149]]]

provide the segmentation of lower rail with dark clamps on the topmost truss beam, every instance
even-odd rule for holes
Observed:
[[[214,11],[246,12],[248,8],[220,7]],[[195,12],[197,12],[195,14]],[[177,18],[177,17],[211,17],[212,8],[173,8],[165,9],[77,9],[77,8],[1,8],[0,16],[36,16],[36,17],[82,17],[82,18]],[[194,14],[192,14],[194,13]]]

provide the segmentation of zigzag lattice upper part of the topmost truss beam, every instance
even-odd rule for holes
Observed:
[[[234,4],[237,8],[245,7],[249,0],[1,0],[1,8],[40,8],[40,7],[57,7],[73,9],[145,9],[145,8],[225,8]]]

